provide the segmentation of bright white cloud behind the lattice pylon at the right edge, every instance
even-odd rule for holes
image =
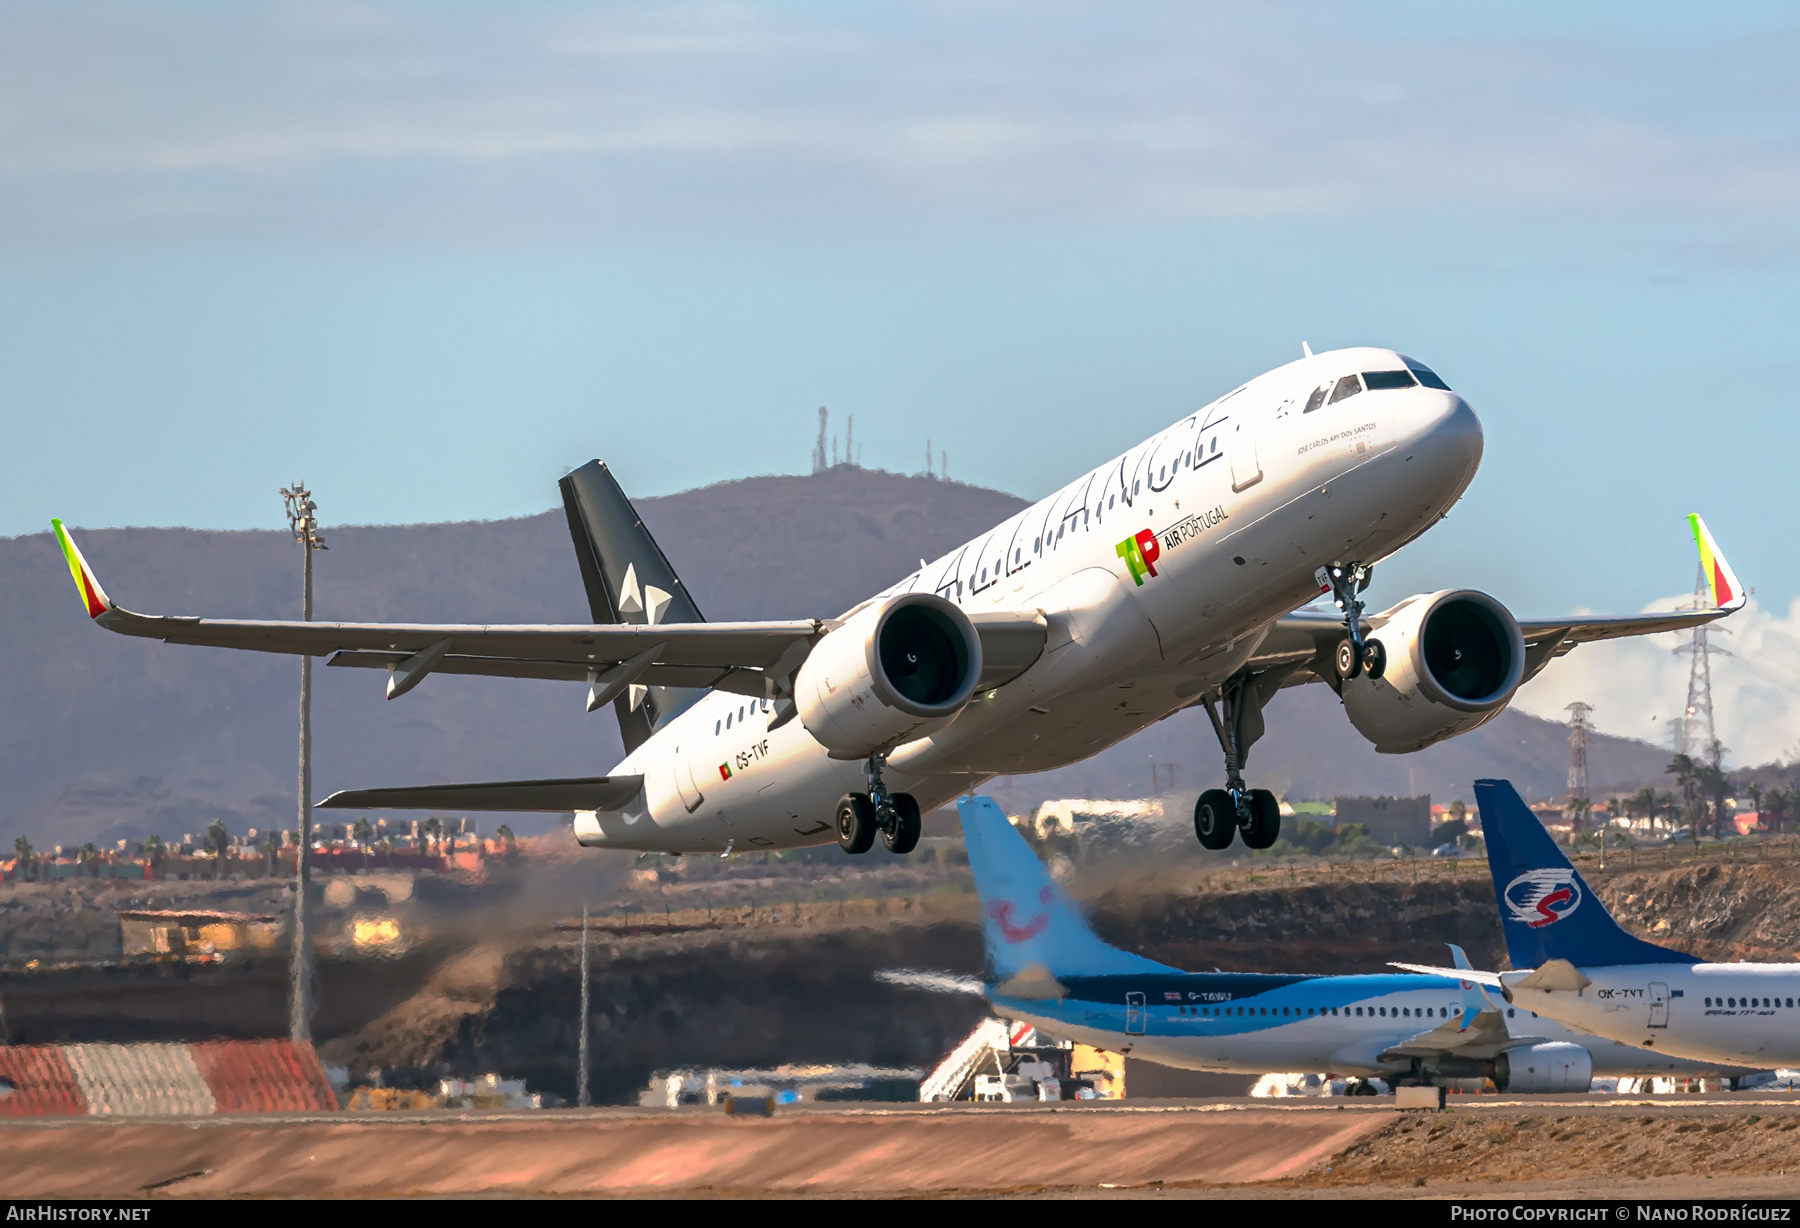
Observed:
[[[1672,610],[1688,598],[1665,598],[1651,610]],[[1800,758],[1800,600],[1786,614],[1755,600],[1723,623],[1712,643],[1712,708],[1728,765]],[[1593,704],[1593,724],[1629,738],[1672,745],[1669,722],[1687,706],[1692,655],[1678,654],[1692,636],[1643,636],[1586,645],[1519,690],[1521,709],[1568,720],[1566,704]]]

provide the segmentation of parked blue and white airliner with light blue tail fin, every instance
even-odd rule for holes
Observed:
[[[958,812],[990,972],[970,989],[985,992],[997,1014],[1051,1035],[1186,1070],[1492,1079],[1501,1091],[1588,1091],[1597,1075],[1750,1073],[1489,1003],[1454,971],[1183,972],[1102,942],[990,798],[963,798]],[[1451,951],[1465,962],[1460,947]],[[956,980],[925,974],[913,983],[934,989]]]

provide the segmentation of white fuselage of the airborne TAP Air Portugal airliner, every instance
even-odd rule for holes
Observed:
[[[1087,758],[1228,679],[1318,596],[1319,565],[1375,562],[1438,520],[1481,454],[1460,396],[1366,391],[1301,412],[1332,375],[1399,366],[1391,351],[1337,351],[1258,376],[877,594],[1039,609],[1049,623],[1030,670],[889,756],[887,787],[932,808],[995,774]],[[1125,546],[1145,531],[1154,574]],[[614,769],[643,774],[644,792],[623,812],[578,816],[581,843],[833,841],[839,798],[866,787],[862,763],[828,758],[797,720],[769,720],[742,695],[707,695]]]

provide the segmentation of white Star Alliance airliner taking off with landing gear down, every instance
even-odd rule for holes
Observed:
[[[562,481],[590,625],[133,614],[54,528],[108,630],[333,654],[387,670],[389,699],[430,673],[583,681],[628,751],[607,776],[349,790],[326,807],[576,812],[578,839],[607,848],[837,839],[860,853],[880,837],[905,852],[922,808],[1199,704],[1226,787],[1201,794],[1195,834],[1267,848],[1280,812],[1244,765],[1276,690],[1323,682],[1377,751],[1417,751],[1490,720],[1579,643],[1735,609],[1519,621],[1445,589],[1364,614],[1370,567],[1436,524],[1480,459],[1474,411],[1424,364],[1309,353],[837,618],[772,623],[706,623],[598,461]],[[1321,592],[1336,614],[1301,610]]]

